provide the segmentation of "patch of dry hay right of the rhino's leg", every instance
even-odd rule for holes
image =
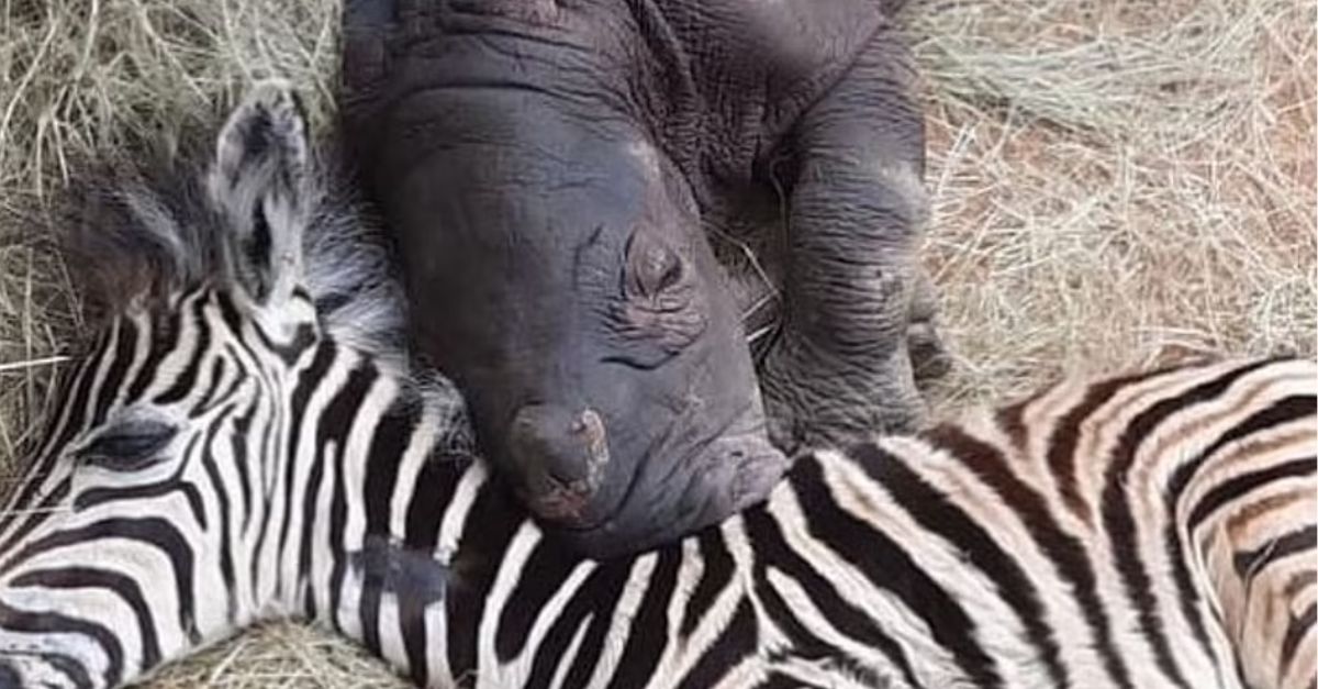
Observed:
[[[919,15],[944,407],[1061,370],[1314,352],[1313,3]]]

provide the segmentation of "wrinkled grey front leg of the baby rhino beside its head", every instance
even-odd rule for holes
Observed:
[[[786,325],[762,367],[783,447],[913,429],[912,356],[946,367],[913,259],[928,215],[916,92],[908,53],[879,32],[789,133]]]

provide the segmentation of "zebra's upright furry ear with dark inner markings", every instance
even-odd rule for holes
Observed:
[[[237,281],[257,304],[287,298],[302,277],[310,207],[308,144],[301,103],[264,82],[229,115],[207,181],[225,219]]]

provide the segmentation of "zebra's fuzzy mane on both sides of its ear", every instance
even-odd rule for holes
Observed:
[[[171,294],[237,279],[233,232],[207,194],[210,139],[173,150],[103,158],[71,191],[61,248],[92,323],[129,309],[167,309]],[[328,337],[370,354],[422,397],[452,409],[467,436],[463,401],[444,376],[413,364],[407,300],[393,247],[356,193],[340,147],[322,141],[308,161],[303,286]],[[69,216],[71,215],[71,216]],[[95,329],[92,329],[95,330]]]

